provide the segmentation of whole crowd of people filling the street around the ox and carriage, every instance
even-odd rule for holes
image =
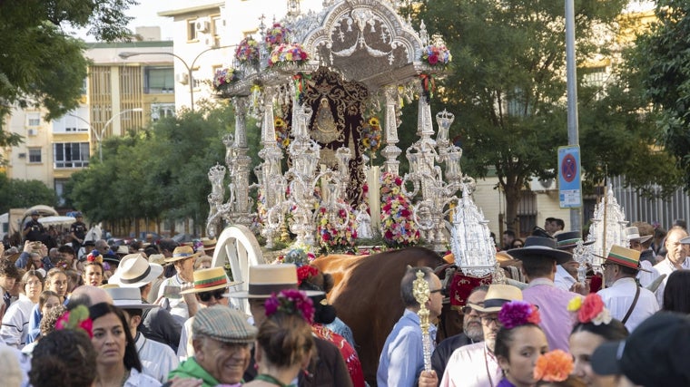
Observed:
[[[504,233],[525,283],[471,289],[458,307],[463,332],[436,343],[430,324],[431,351],[419,313],[439,318],[445,284],[432,268],[409,267],[377,385],[690,385],[680,361],[690,334],[685,228],[659,240],[651,225],[628,227],[628,246],[612,247],[603,273],[582,281],[572,251],[588,242],[564,226],[549,218],[525,240]],[[251,266],[240,290],[211,267],[211,240],[116,248],[80,232],[48,249],[28,238],[32,227],[21,252],[0,252],[4,385],[367,385],[352,333],[326,298],[332,281],[315,266]]]

